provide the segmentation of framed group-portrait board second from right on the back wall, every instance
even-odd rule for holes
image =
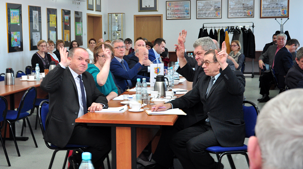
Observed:
[[[254,0],[228,0],[228,18],[254,18]]]

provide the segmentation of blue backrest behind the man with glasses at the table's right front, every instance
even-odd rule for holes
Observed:
[[[245,106],[244,104],[250,104],[251,106]],[[245,137],[249,138],[250,136],[254,136],[254,128],[257,122],[257,116],[259,114],[259,109],[257,105],[255,105],[251,101],[243,101],[243,115],[245,121]]]

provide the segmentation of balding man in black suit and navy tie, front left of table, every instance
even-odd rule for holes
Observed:
[[[85,70],[89,62],[87,51],[74,47],[70,52],[60,49],[61,61],[41,82],[41,89],[49,93],[49,113],[45,122],[45,141],[63,148],[66,144],[88,146],[96,168],[110,150],[110,130],[104,127],[75,123],[87,113],[107,105],[106,97],[96,88],[94,78]],[[67,57],[68,55],[68,57]]]

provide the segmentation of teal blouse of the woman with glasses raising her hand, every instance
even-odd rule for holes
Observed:
[[[115,82],[113,81],[113,77],[112,77],[110,71],[109,71],[109,74],[107,76],[107,80],[106,80],[106,82],[103,86],[100,86],[97,83],[97,74],[100,72],[99,68],[97,68],[94,64],[88,64],[88,68],[87,68],[86,71],[90,72],[92,74],[92,76],[94,77],[97,88],[105,96],[109,95],[110,92],[116,92],[118,94],[118,89],[115,85]]]

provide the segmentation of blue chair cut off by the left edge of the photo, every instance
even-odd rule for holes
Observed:
[[[7,152],[6,152],[3,140],[2,140],[2,135],[1,135],[1,129],[5,125],[6,112],[7,112],[7,101],[6,101],[5,97],[0,96],[0,122],[2,122],[2,125],[0,126],[0,141],[1,141],[1,144],[3,147],[3,151],[4,151],[4,155],[6,157],[7,164],[8,164],[8,166],[11,166],[10,160],[8,159]],[[4,137],[5,137],[5,135],[4,135]]]

